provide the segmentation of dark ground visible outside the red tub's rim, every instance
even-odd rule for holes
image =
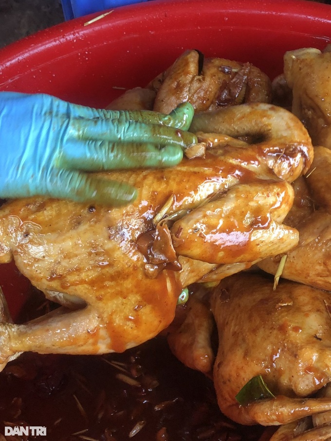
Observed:
[[[0,48],[61,21],[60,0],[0,0]]]

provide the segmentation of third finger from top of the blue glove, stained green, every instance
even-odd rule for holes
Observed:
[[[55,166],[67,170],[131,169],[171,167],[183,159],[181,147],[162,149],[152,144],[121,144],[109,141],[68,141],[55,159]]]

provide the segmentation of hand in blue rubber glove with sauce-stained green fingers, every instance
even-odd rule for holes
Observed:
[[[167,167],[196,137],[193,108],[169,115],[78,106],[45,94],[0,92],[0,197],[129,203],[136,190],[86,172]]]

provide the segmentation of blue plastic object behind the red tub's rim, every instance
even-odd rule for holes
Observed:
[[[62,0],[64,18],[82,17],[93,12],[116,8],[132,3],[141,3],[148,0]]]

